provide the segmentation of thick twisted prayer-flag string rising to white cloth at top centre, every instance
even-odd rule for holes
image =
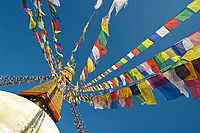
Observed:
[[[101,3],[101,1],[99,1],[99,2]],[[98,36],[96,42],[95,42],[95,46],[92,49],[92,53],[90,54],[90,57],[88,57],[87,63],[85,65],[87,67],[88,72],[85,73],[85,70],[83,70],[81,75],[80,75],[79,81],[85,82],[86,79],[87,79],[86,75],[88,75],[88,73],[91,73],[95,70],[95,67],[98,64],[98,62],[100,61],[100,58],[107,53],[107,50],[105,49],[106,45],[107,45],[107,40],[106,40],[104,33],[106,33],[107,36],[110,36],[108,24],[109,24],[109,21],[110,21],[111,13],[112,13],[112,11],[115,7],[116,8],[116,15],[117,15],[119,10],[123,6],[127,5],[127,2],[128,2],[128,0],[113,0],[113,3],[112,3],[111,8],[108,12],[108,15],[106,15],[104,18],[102,18],[101,31],[99,33],[99,36]],[[97,1],[97,3],[98,3],[98,1]],[[82,38],[80,38],[79,43],[80,43]],[[77,48],[75,48],[75,49],[77,49]],[[108,72],[111,72],[111,70],[109,69]],[[96,80],[96,82],[97,82],[97,80]]]

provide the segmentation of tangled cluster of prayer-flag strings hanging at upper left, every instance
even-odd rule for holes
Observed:
[[[45,23],[43,21],[43,17],[45,14],[42,11],[42,0],[34,0],[33,3],[33,9],[35,17],[33,17],[33,13],[30,8],[27,8],[27,0],[22,0],[23,7],[25,11],[29,15],[30,24],[29,29],[32,29],[32,31],[35,34],[36,40],[38,41],[38,44],[41,46],[43,50],[44,57],[50,67],[51,74],[54,76],[54,79],[57,81],[58,88],[60,90],[65,90],[67,80],[66,78],[70,76],[70,73],[65,73],[63,71],[64,67],[62,66],[62,42],[58,35],[60,33],[60,24],[61,19],[59,18],[59,15],[54,7],[60,6],[60,2],[58,0],[48,0],[48,7],[51,17],[51,24],[52,24],[52,32],[53,32],[53,43],[55,44],[55,53],[56,53],[56,60],[53,55],[53,51],[50,48],[49,41],[48,41],[48,35],[47,30],[45,29]],[[34,21],[34,19],[36,21]],[[70,66],[69,66],[70,67]],[[71,82],[71,81],[70,81]]]

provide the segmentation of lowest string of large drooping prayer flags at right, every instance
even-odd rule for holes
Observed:
[[[194,99],[200,97],[200,58],[177,66],[175,68],[170,68],[166,72],[169,73],[159,73],[154,75],[147,80],[140,81],[136,84],[130,85],[128,87],[116,90],[114,92],[109,92],[106,94],[101,94],[93,97],[95,109],[104,109],[105,107],[116,109],[118,106],[127,108],[132,107],[132,96],[134,96],[142,105],[147,103],[147,105],[157,104],[155,97],[152,93],[152,89],[158,89],[167,100],[176,99],[183,94],[189,97],[183,82],[190,89]],[[167,77],[165,77],[167,75]],[[170,77],[172,76],[172,77]],[[178,78],[178,77],[180,78]],[[169,81],[168,79],[172,79]],[[182,89],[180,89],[182,87]]]

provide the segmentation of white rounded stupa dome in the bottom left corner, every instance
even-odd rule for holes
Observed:
[[[54,121],[33,102],[0,91],[0,133],[60,133]]]

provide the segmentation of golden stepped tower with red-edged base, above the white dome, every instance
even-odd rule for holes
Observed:
[[[47,114],[49,114],[54,122],[60,120],[63,93],[58,91],[55,80],[45,82],[29,90],[24,90],[20,92],[19,95],[29,99],[42,108]]]

